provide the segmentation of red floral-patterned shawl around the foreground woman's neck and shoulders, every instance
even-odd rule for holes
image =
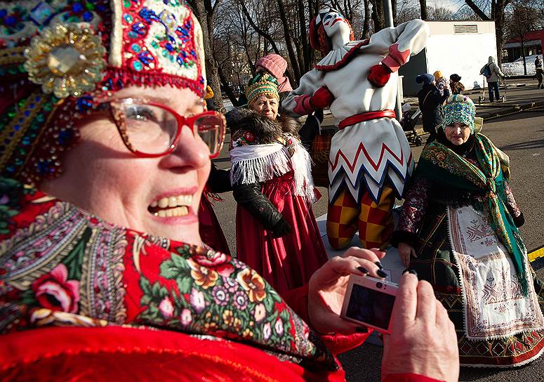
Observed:
[[[319,336],[244,263],[111,225],[37,190],[5,195],[18,195],[4,203],[18,209],[8,207],[8,233],[0,235],[0,334],[43,325],[159,327],[338,369]]]

